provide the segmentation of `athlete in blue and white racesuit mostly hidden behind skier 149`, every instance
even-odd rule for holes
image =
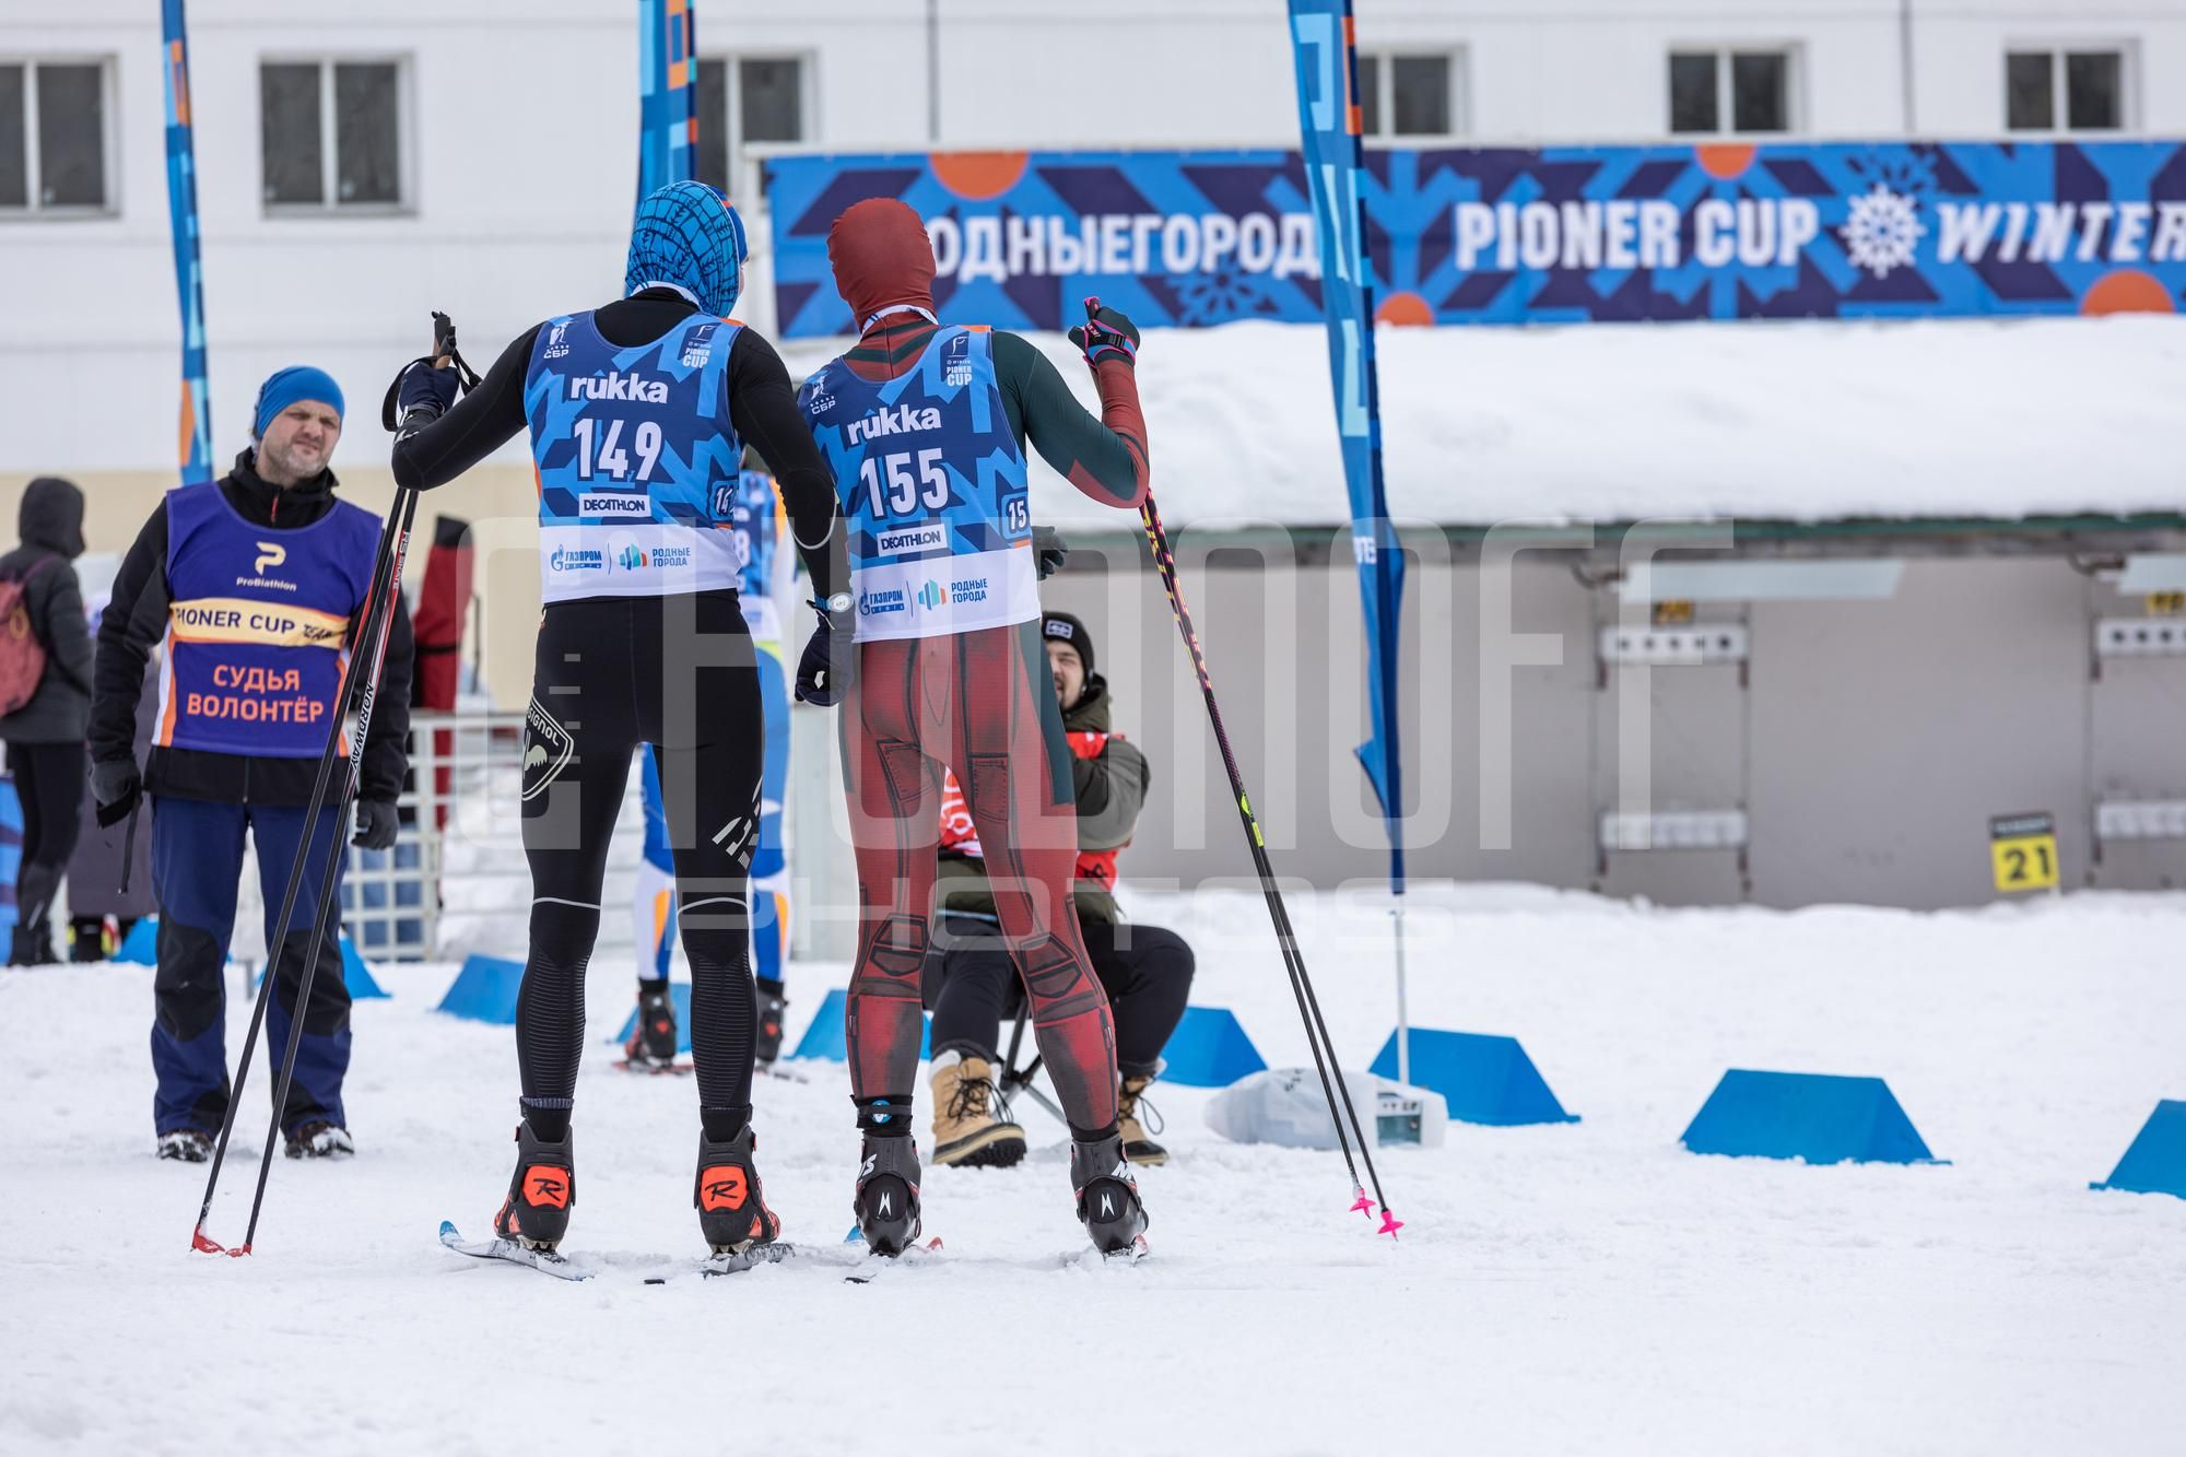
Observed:
[[[737,556],[743,560],[743,621],[759,648],[759,693],[767,722],[767,757],[759,781],[759,849],[752,853],[752,969],[759,974],[759,1039],[754,1061],[783,1050],[783,965],[789,960],[789,862],[783,855],[783,796],[789,790],[789,676],[783,672],[783,608],[789,602],[789,553],[776,551],[787,516],[765,470],[737,481]],[[675,1061],[675,1002],[669,960],[675,952],[675,860],[660,772],[640,755],[645,785],[645,855],[630,897],[630,939],[638,960],[638,1015],[623,1044],[634,1070]]]

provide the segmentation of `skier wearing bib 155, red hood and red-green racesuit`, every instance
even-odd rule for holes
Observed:
[[[936,319],[933,247],[905,203],[853,203],[826,245],[857,343],[804,381],[800,403],[835,470],[857,595],[822,632],[855,641],[855,663],[839,672],[850,654],[815,643],[798,696],[842,698],[859,890],[848,1009],[859,1229],[898,1254],[920,1227],[909,1105],[947,768],[966,790],[1001,939],[1071,1124],[1078,1219],[1102,1254],[1135,1254],[1145,1208],[1124,1159],[1115,1022],[1071,910],[1071,748],[1041,648],[1027,448],[1102,505],[1145,501],[1139,330],[1097,302],[1071,330],[1095,418],[1030,341]]]

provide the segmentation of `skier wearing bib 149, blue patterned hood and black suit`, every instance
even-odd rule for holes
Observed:
[[[453,481],[518,431],[540,486],[538,667],[525,715],[522,829],[531,952],[516,1000],[522,1122],[494,1216],[551,1251],[577,1199],[571,1107],[584,971],[630,755],[660,772],[691,958],[700,1096],[700,1229],[724,1262],[767,1258],[780,1221],[752,1164],[759,1004],[750,869],[765,726],[756,650],[737,604],[743,446],[780,483],[813,593],[846,593],[835,481],[780,357],[728,317],[743,223],[717,190],[671,182],[638,203],[623,295],[525,330],[461,405],[455,370],[402,370],[396,483]],[[844,595],[846,604],[848,597]],[[540,1256],[531,1256],[533,1260]]]

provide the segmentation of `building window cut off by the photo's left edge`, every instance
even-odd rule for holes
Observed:
[[[105,61],[0,61],[0,212],[109,212]]]

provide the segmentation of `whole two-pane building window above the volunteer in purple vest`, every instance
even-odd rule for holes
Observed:
[[[265,61],[258,149],[265,203],[280,212],[396,212],[402,166],[402,61]]]

